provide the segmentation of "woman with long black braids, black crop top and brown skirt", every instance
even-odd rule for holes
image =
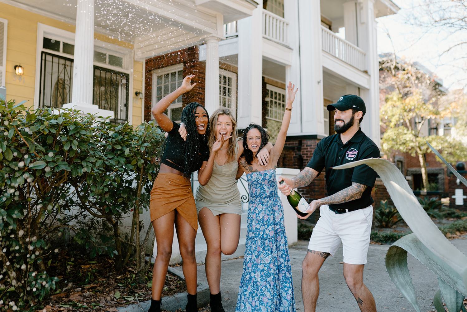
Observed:
[[[204,107],[192,102],[182,112],[182,122],[187,130],[184,140],[178,134],[180,125],[164,114],[180,95],[190,91],[194,75],[186,76],[182,85],[163,97],[151,110],[162,130],[169,133],[162,156],[161,167],[151,191],[151,222],[156,234],[157,255],[152,278],[152,299],[149,312],[161,311],[161,296],[165,276],[172,254],[173,227],[177,231],[183,273],[188,292],[186,311],[198,311],[196,302],[195,238],[198,220],[195,200],[191,190],[191,173],[198,170],[198,181],[206,185],[212,174],[214,158],[228,138],[219,138],[211,153],[207,144],[209,116]]]

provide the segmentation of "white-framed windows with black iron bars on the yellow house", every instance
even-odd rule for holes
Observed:
[[[73,87],[74,34],[39,23],[38,29],[38,107],[62,107],[70,103]],[[112,110],[113,123],[125,123],[130,115],[131,51],[95,41],[92,104]],[[105,60],[96,59],[96,52]],[[115,58],[111,58],[113,56]],[[98,64],[96,64],[98,63]],[[100,63],[100,64],[99,64]]]

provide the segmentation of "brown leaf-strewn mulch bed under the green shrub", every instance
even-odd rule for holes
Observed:
[[[113,261],[106,257],[90,260],[62,254],[56,266],[53,266],[53,262],[51,265],[50,276],[59,276],[60,281],[50,299],[44,300],[42,309],[36,311],[114,312],[117,311],[116,307],[151,298],[152,265],[146,273],[144,284],[136,282],[134,263],[129,263],[121,272],[116,272]],[[181,291],[186,291],[185,281],[168,273],[163,296]]]

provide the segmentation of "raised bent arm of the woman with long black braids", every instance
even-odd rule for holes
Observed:
[[[190,91],[196,83],[191,84],[191,79],[195,77],[195,75],[186,76],[182,82],[182,85],[177,88],[174,92],[167,94],[164,96],[159,102],[154,105],[151,109],[151,113],[157,121],[159,127],[162,128],[163,131],[169,132],[173,128],[173,123],[170,118],[164,114],[164,111],[169,108],[170,104],[174,102],[177,97],[184,94],[185,92]]]

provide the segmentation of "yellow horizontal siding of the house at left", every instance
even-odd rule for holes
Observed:
[[[7,28],[7,62],[5,87],[7,88],[7,99],[21,102],[28,101],[28,107],[34,106],[35,75],[36,75],[36,53],[37,53],[37,24],[42,23],[58,29],[75,32],[75,26],[60,22],[50,17],[29,12],[0,2],[0,17],[8,20]],[[110,44],[133,50],[133,44],[110,38],[106,35],[95,33],[94,38]],[[39,56],[40,57],[40,56]],[[14,65],[21,64],[24,67],[24,75],[21,80],[14,73]],[[37,69],[40,71],[40,68]],[[142,99],[136,98],[135,91],[142,91],[142,62],[134,62],[133,90],[130,90],[129,100],[133,100],[134,125],[142,121],[141,105]]]

